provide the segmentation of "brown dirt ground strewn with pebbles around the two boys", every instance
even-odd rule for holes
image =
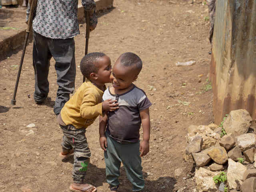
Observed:
[[[153,103],[150,107],[150,152],[142,158],[146,192],[175,192],[196,186],[191,161],[182,158],[190,124],[210,124],[212,90],[207,75],[210,65],[207,5],[187,0],[114,0],[114,8],[99,15],[90,34],[89,52],[104,52],[112,64],[124,52],[134,52],[143,61],[135,84]],[[24,18],[20,18],[23,22]],[[80,60],[84,56],[85,24],[76,36],[76,88],[82,83]],[[0,61],[0,191],[68,192],[72,182],[72,158],[58,158],[62,132],[53,113],[56,72],[51,60],[50,93],[44,104],[33,99],[32,44],[26,50],[16,106],[12,99],[22,51]],[[195,60],[192,66],[176,62]],[[201,76],[201,77],[198,77]],[[201,80],[201,82],[200,82]],[[34,128],[26,125],[34,123]],[[98,120],[86,136],[92,158],[86,180],[107,192],[103,151],[98,141]],[[182,168],[181,176],[174,170]],[[121,168],[120,192],[129,192],[130,182]]]

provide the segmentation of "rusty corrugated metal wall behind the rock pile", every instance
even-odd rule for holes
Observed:
[[[217,0],[210,79],[216,124],[236,109],[256,119],[256,0]]]

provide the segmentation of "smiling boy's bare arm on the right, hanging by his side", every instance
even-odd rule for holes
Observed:
[[[149,108],[140,111],[140,118],[143,129],[143,141],[140,143],[140,156],[145,156],[149,152],[150,139],[150,117]]]

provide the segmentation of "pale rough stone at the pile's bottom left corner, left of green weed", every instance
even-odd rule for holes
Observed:
[[[196,182],[196,191],[217,192],[218,188],[216,187],[214,180],[212,178],[218,174],[219,172],[213,172],[202,167],[196,169],[196,173],[194,176]]]

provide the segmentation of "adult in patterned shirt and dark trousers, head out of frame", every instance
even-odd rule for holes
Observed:
[[[90,31],[97,25],[94,0],[82,0],[90,12]],[[34,100],[41,104],[48,96],[50,59],[55,60],[58,90],[54,114],[58,115],[73,93],[76,77],[74,36],[80,34],[77,20],[78,0],[38,0],[33,17]],[[26,22],[30,12],[27,8]],[[86,14],[85,14],[86,15]]]

